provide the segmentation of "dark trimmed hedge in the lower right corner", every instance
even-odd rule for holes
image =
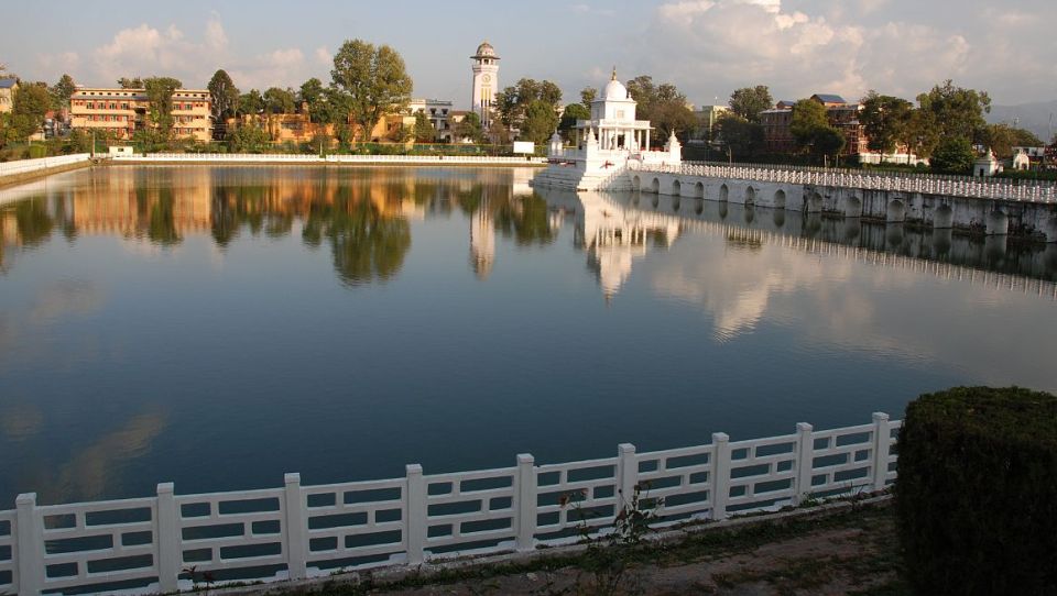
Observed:
[[[1057,397],[923,395],[898,452],[900,540],[922,594],[1057,594]]]

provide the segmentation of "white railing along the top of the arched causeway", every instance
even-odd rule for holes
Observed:
[[[829,170],[822,168],[793,169],[781,166],[733,166],[712,164],[635,165],[632,169],[702,176],[735,180],[753,180],[792,185],[810,185],[887,190],[948,197],[1001,199],[1025,202],[1057,202],[1057,184],[1042,180],[1013,180],[970,178],[967,176],[936,176],[929,174],[864,173],[858,170]]]

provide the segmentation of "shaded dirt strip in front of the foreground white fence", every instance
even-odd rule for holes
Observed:
[[[323,585],[302,594],[400,596],[716,594],[731,596],[908,594],[887,506],[817,519],[764,522],[741,529],[687,534],[647,544],[626,565],[589,570],[598,559],[528,562],[521,569],[477,567],[442,576],[411,577],[400,585],[370,578]],[[618,570],[623,567],[622,573]],[[613,586],[615,585],[615,589]]]

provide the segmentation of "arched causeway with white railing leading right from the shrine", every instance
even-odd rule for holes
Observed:
[[[629,163],[642,192],[1057,242],[1057,184],[930,174]]]

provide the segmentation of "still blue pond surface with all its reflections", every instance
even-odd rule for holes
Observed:
[[[0,509],[1057,390],[1057,246],[534,194],[534,173],[116,166],[0,190]]]

